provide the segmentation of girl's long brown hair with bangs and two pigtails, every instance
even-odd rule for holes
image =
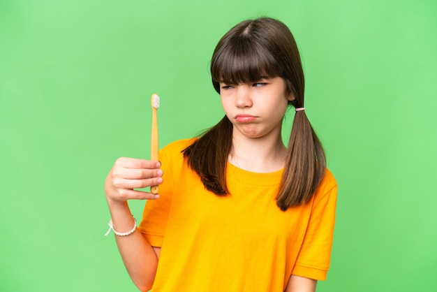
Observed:
[[[232,27],[218,42],[211,63],[212,84],[237,85],[258,82],[263,77],[281,77],[295,108],[304,106],[304,72],[299,50],[290,29],[269,17],[245,20]],[[232,123],[223,117],[216,126],[183,150],[184,157],[200,176],[205,188],[218,196],[228,194],[226,163],[232,147]],[[295,114],[276,204],[281,210],[305,203],[325,175],[323,147],[306,117]]]

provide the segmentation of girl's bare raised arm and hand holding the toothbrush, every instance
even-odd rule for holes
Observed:
[[[140,159],[117,159],[105,180],[105,196],[110,208],[114,229],[131,230],[134,221],[127,200],[154,200],[158,196],[145,191],[135,191],[161,184],[160,163]],[[160,248],[151,247],[143,235],[135,231],[128,236],[115,236],[121,258],[131,279],[141,291],[153,285]]]

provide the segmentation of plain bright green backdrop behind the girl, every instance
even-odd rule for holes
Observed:
[[[212,51],[260,15],[295,34],[339,183],[318,291],[437,291],[434,0],[0,0],[0,291],[137,291],[103,180],[149,157],[152,93],[161,147],[221,118]]]

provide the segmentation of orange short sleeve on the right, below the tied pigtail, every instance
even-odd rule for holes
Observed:
[[[325,280],[331,257],[337,198],[337,184],[327,170],[313,196],[304,242],[297,256],[292,275]]]

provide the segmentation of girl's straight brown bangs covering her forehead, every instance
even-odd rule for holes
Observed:
[[[281,76],[282,66],[267,48],[250,38],[237,37],[218,48],[212,59],[211,75],[214,83],[237,85]]]

